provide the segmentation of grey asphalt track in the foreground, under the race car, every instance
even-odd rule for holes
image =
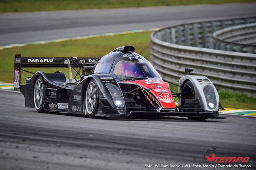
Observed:
[[[228,119],[206,121],[179,117],[91,119],[37,113],[35,108],[24,107],[19,91],[0,90],[0,94],[1,170],[203,165],[204,154],[212,146],[218,147],[219,154],[249,154],[248,165],[256,165],[254,117],[224,115]]]

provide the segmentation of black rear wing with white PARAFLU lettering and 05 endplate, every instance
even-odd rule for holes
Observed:
[[[85,57],[81,57],[79,60],[77,57],[21,57],[21,54],[16,54],[13,77],[14,90],[20,89],[21,71],[26,71],[22,68],[69,68],[69,79],[73,79],[71,68],[76,71],[76,76],[80,75],[80,69],[83,71],[82,75],[85,75],[85,70],[92,69],[98,59]],[[79,70],[77,71],[75,68],[79,68]],[[32,73],[30,71],[26,72]]]

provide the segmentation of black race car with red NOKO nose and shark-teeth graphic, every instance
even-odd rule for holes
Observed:
[[[24,58],[15,55],[14,89],[20,89],[26,107],[37,112],[76,113],[128,117],[131,113],[188,117],[193,120],[219,117],[219,95],[204,76],[180,79],[179,93],[169,88],[156,69],[133,46],[123,46],[102,58]],[[62,71],[37,71],[20,84],[22,68],[64,67]],[[72,71],[76,71],[73,79]],[[186,68],[186,71],[193,71]],[[29,72],[29,71],[28,71]],[[82,72],[82,73],[81,73]],[[31,73],[31,72],[30,72]],[[79,77],[76,79],[76,77]],[[173,97],[179,98],[176,106]]]

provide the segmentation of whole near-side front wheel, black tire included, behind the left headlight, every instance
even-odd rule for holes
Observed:
[[[98,111],[98,88],[94,79],[89,82],[86,90],[85,107],[89,117],[94,118]]]

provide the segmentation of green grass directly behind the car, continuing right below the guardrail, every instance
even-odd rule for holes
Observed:
[[[104,36],[88,38],[83,40],[72,40],[48,44],[29,45],[24,47],[0,50],[0,81],[13,82],[14,55],[21,53],[22,57],[102,57],[113,49],[131,45],[135,47],[135,52],[149,59],[149,36],[151,31],[133,33],[126,35]],[[54,71],[64,71],[68,75],[67,68],[24,68],[28,71],[36,72],[43,70],[46,73]],[[26,77],[32,74],[22,71],[22,84]],[[74,75],[74,74],[73,74]],[[178,92],[178,87],[170,84],[174,92]],[[226,108],[240,108],[256,110],[256,99],[246,95],[221,91],[219,92],[221,104]],[[176,102],[177,99],[174,99]]]

